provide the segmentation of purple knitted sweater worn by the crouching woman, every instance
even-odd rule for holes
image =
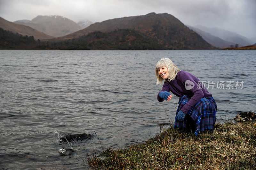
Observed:
[[[185,82],[187,84],[186,86],[185,86]],[[190,86],[188,84],[190,84]],[[191,86],[193,84],[194,84],[194,87]],[[186,87],[188,90],[186,89]],[[164,82],[161,92],[164,92],[164,91],[167,91],[167,92],[171,91],[174,95],[178,97],[187,95],[189,98],[191,98],[188,101],[188,103],[186,103],[181,108],[181,111],[186,114],[188,113],[188,110],[190,110],[193,106],[195,106],[196,103],[200,101],[202,98],[212,96],[212,94],[206,90],[204,85],[200,83],[200,80],[196,76],[194,76],[193,74],[187,71],[181,71],[181,70],[177,73],[175,80],[172,80],[170,82],[167,82],[167,81]],[[164,101],[164,99],[159,97],[159,93],[157,94],[157,100],[159,102],[162,102]]]

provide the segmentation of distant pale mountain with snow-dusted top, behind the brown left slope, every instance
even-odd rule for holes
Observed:
[[[36,18],[30,20],[18,20],[16,24],[30,26],[38,31],[51,35],[53,37],[60,37],[74,33],[83,29],[74,21],[64,18],[59,15],[42,16],[38,15]]]

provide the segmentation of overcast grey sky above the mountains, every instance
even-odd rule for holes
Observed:
[[[0,0],[0,17],[12,22],[37,15],[101,22],[150,12],[171,14],[185,25],[256,36],[256,0]]]

